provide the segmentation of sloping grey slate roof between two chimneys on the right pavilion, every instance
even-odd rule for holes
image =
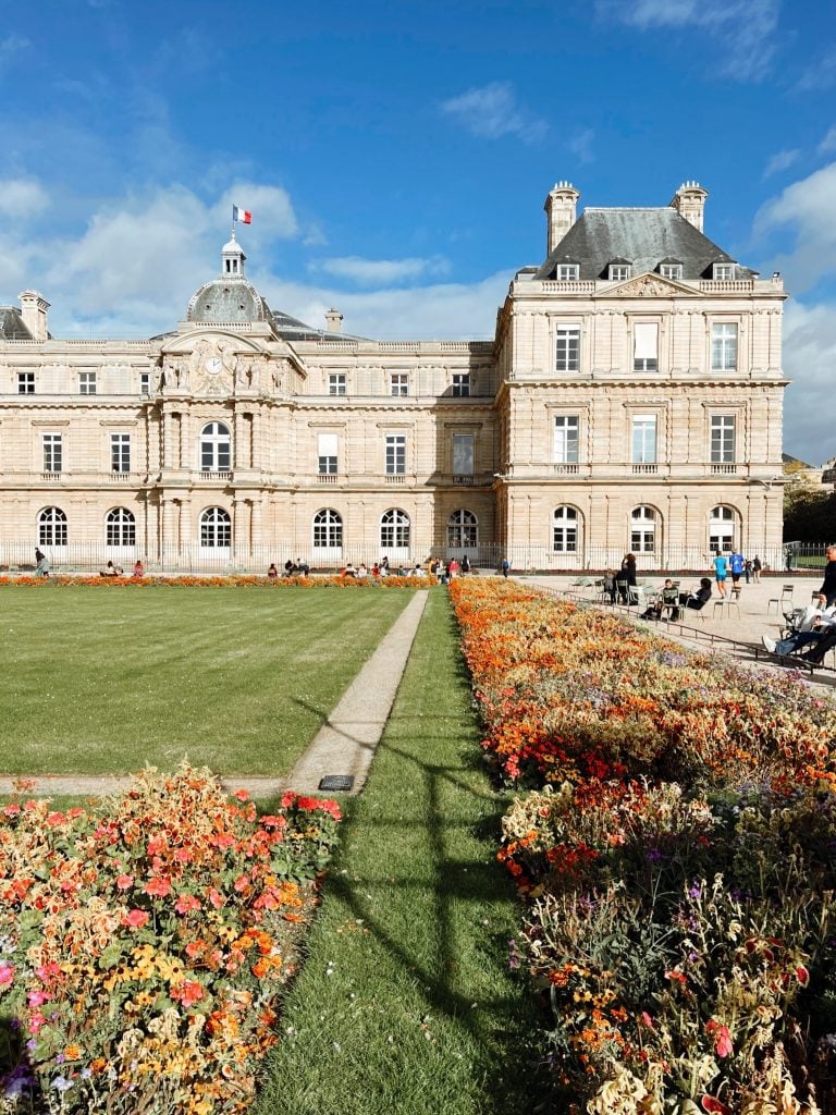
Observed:
[[[545,263],[537,279],[554,278],[558,263],[580,263],[579,279],[606,279],[611,263],[629,261],[633,275],[657,271],[668,260],[682,263],[683,279],[710,279],[712,263],[736,263],[699,229],[664,209],[586,209]],[[757,272],[736,265],[736,278]]]

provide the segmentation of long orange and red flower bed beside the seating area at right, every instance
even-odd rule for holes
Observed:
[[[451,585],[507,778],[512,962],[567,1109],[836,1111],[836,707],[600,610]]]

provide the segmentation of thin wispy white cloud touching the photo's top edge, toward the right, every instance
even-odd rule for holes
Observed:
[[[776,50],[780,0],[597,0],[605,19],[640,30],[701,28],[720,43],[719,71],[758,80]]]

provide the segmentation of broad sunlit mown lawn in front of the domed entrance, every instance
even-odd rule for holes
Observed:
[[[3,588],[0,770],[286,774],[411,595]]]

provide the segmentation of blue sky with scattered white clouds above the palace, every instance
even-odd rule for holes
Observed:
[[[785,449],[836,455],[832,0],[0,0],[0,303],[60,337],[175,326],[233,202],[274,309],[488,338],[543,201],[665,205],[781,271]]]

